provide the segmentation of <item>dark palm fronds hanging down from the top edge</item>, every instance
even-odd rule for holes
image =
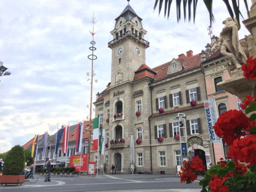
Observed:
[[[177,21],[178,22],[181,20],[181,8],[182,8],[181,1],[182,0],[176,0],[176,12],[177,12]],[[189,22],[191,21],[191,15],[192,15],[191,9],[192,8],[193,8],[193,22],[195,22],[195,11],[196,11],[196,6],[197,6],[197,1],[198,0],[183,0],[184,19],[186,19],[187,10],[188,10]],[[241,14],[240,9],[239,9],[239,5],[240,5],[239,0],[238,0],[238,3],[236,2],[236,0],[232,0],[233,10],[232,10],[231,5],[229,4],[228,0],[223,0],[223,1],[226,4],[226,8],[228,10],[230,17],[232,17],[232,19],[234,19],[234,16],[235,16],[238,24],[240,25],[239,14],[242,17],[243,17],[243,15]],[[159,2],[159,14],[160,14],[163,0],[156,0],[154,10],[156,10],[158,2]],[[212,9],[213,8],[213,0],[203,0],[203,2],[209,12],[210,26],[212,26],[212,22],[214,22],[213,9]],[[167,13],[167,18],[169,18],[170,10],[171,10],[171,3],[172,3],[172,0],[164,0],[164,17],[166,16],[166,13]],[[245,7],[247,9],[247,13],[249,15],[247,0],[244,0],[244,3],[245,3]],[[250,15],[249,15],[249,17],[250,17]]]

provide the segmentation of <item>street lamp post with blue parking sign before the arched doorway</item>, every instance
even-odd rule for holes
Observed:
[[[187,159],[187,160],[189,159],[188,158],[188,142],[187,142],[188,140],[187,140],[187,132],[186,132],[186,118],[187,117],[185,116],[184,113],[178,113],[178,116],[173,118],[174,120],[178,120],[178,126],[179,126],[179,132],[180,132],[181,162],[182,163],[183,163],[183,159],[184,160],[185,159]],[[184,120],[184,124],[182,124],[182,122],[180,120]],[[185,143],[186,143],[186,149],[185,150],[183,150],[184,146],[182,145],[182,142],[181,142],[181,128],[182,127],[185,128],[185,131],[184,131],[185,132]],[[183,151],[186,152],[186,155],[185,155],[186,158],[183,158],[183,153],[182,153]]]

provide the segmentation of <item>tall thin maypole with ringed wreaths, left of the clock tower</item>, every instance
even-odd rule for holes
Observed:
[[[89,147],[88,147],[88,162],[90,162],[90,152],[91,152],[91,132],[92,132],[92,102],[93,102],[93,74],[94,74],[94,60],[97,59],[97,56],[94,55],[94,51],[96,50],[96,47],[94,46],[96,44],[96,42],[94,41],[94,35],[96,32],[94,32],[94,24],[96,24],[96,18],[94,17],[94,13],[93,13],[93,17],[91,18],[90,23],[93,24],[93,32],[91,32],[92,36],[93,36],[93,40],[91,41],[92,47],[90,47],[89,49],[92,51],[91,55],[88,55],[88,59],[92,60],[92,78],[91,78],[91,103],[90,103],[90,126],[89,126]],[[87,171],[89,171],[89,163],[88,163],[88,167],[87,167]]]

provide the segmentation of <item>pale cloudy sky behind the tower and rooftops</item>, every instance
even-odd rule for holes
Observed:
[[[210,43],[209,16],[198,1],[195,24],[178,24],[175,5],[167,20],[153,12],[155,0],[130,0],[150,42],[146,64],[150,67],[171,61],[192,50],[198,54]],[[219,36],[228,17],[219,0],[213,11],[213,34]],[[249,2],[251,3],[251,2]],[[56,132],[62,125],[85,120],[90,111],[91,72],[89,47],[95,14],[95,54],[93,101],[110,82],[111,49],[115,18],[125,9],[127,0],[1,0],[0,61],[11,72],[0,77],[0,153],[14,145],[24,145],[35,134]],[[242,4],[243,5],[243,4]],[[251,6],[251,4],[249,4]],[[246,11],[242,7],[245,18]],[[242,24],[239,37],[249,34]],[[90,77],[89,77],[90,78]]]

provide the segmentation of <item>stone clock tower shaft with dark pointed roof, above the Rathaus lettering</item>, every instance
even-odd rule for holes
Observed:
[[[115,29],[110,32],[113,40],[108,42],[112,49],[111,87],[133,81],[134,72],[145,64],[145,50],[149,47],[142,19],[129,4],[115,20]]]

